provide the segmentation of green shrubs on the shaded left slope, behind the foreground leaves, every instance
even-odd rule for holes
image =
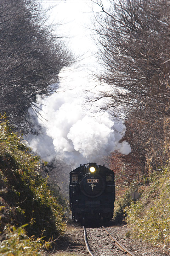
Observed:
[[[0,232],[5,226],[28,224],[27,235],[54,239],[63,233],[63,208],[47,180],[39,175],[39,158],[33,156],[5,117],[0,122]]]

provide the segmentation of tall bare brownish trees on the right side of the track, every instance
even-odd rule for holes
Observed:
[[[170,3],[110,0],[105,9],[102,1],[93,2],[101,7],[93,24],[104,70],[94,76],[111,90],[89,100],[104,98],[102,110],[125,118],[126,140],[143,168],[147,158],[161,164],[166,160],[164,122],[170,114]]]

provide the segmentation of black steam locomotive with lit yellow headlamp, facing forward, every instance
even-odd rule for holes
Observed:
[[[69,205],[74,221],[84,224],[111,220],[115,206],[114,172],[94,162],[71,171]]]

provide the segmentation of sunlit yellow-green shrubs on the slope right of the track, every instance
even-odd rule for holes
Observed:
[[[170,168],[150,177],[141,200],[125,208],[132,234],[143,241],[170,250]]]

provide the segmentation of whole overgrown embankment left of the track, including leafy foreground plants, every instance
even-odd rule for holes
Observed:
[[[63,209],[46,179],[39,158],[0,119],[0,255],[40,255],[63,233]]]

